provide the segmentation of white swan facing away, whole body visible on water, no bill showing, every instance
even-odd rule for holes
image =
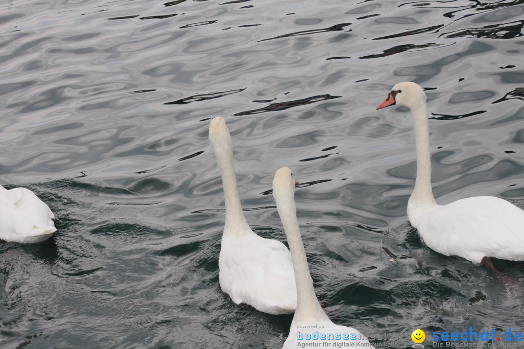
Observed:
[[[231,136],[223,118],[211,120],[211,143],[224,188],[226,219],[219,256],[220,287],[237,303],[270,314],[292,313],[297,306],[291,254],[277,240],[249,228],[238,197]]]

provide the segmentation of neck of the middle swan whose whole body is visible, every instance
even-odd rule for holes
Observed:
[[[242,212],[240,197],[238,196],[231,143],[225,144],[224,147],[214,148],[214,152],[224,189],[226,207],[224,234],[243,234],[250,231],[250,228]]]

